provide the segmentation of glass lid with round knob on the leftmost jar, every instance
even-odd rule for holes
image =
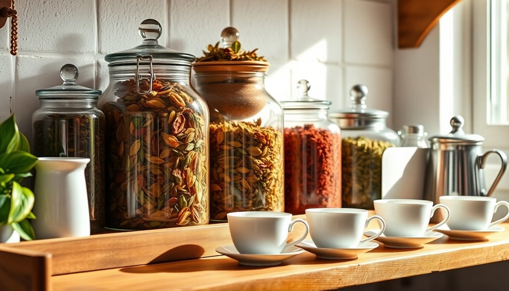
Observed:
[[[67,97],[98,99],[102,93],[100,90],[90,89],[76,84],[78,68],[72,64],[62,66],[60,69],[60,77],[64,81],[62,85],[36,90],[35,94],[39,96],[39,99],[65,99]]]

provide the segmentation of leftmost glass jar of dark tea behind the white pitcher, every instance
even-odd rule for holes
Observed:
[[[104,230],[104,114],[97,109],[101,91],[76,84],[78,68],[60,70],[62,85],[37,90],[40,107],[32,115],[33,152],[38,157],[90,158],[85,180],[90,230]]]

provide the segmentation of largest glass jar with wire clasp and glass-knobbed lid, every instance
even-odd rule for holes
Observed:
[[[206,224],[209,114],[190,84],[195,58],[159,45],[156,20],[139,35],[141,45],[105,56],[107,226]]]

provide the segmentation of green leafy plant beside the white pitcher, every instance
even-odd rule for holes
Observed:
[[[29,142],[19,132],[12,114],[0,124],[0,242],[7,241],[13,230],[24,240],[35,238],[28,220],[35,219],[34,193],[20,183],[32,176],[30,170],[36,162],[37,157],[30,154]]]

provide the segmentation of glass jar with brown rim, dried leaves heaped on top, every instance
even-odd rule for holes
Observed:
[[[232,38],[225,37],[225,47]],[[211,220],[227,221],[235,211],[283,211],[283,112],[265,90],[269,64],[203,61],[193,68],[210,110]]]

